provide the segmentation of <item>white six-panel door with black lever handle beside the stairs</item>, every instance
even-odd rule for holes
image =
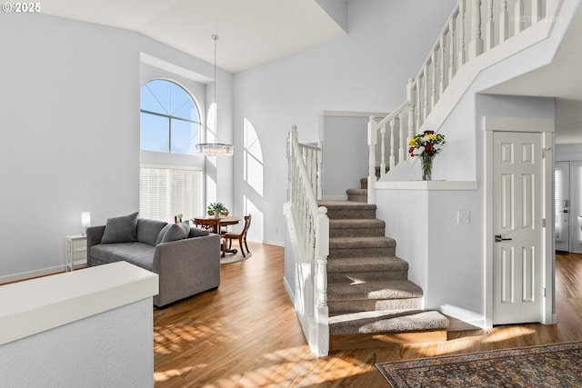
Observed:
[[[543,321],[542,141],[493,134],[493,324]]]

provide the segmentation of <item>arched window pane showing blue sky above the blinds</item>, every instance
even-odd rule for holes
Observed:
[[[186,90],[156,79],[141,87],[140,147],[146,151],[196,154],[200,113]]]

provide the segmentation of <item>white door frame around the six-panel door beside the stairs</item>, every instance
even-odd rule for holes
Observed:
[[[544,324],[556,323],[555,308],[555,268],[554,254],[554,132],[553,119],[530,117],[483,117],[485,132],[484,176],[485,176],[485,324],[493,327],[493,254],[494,254],[494,222],[493,222],[493,134],[494,132],[531,132],[542,134],[542,218],[546,219],[546,227],[542,228],[542,262],[543,282],[546,289],[542,303]]]

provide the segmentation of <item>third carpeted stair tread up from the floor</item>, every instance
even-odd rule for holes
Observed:
[[[327,262],[327,274],[384,271],[408,271],[408,263],[396,256],[341,257]]]

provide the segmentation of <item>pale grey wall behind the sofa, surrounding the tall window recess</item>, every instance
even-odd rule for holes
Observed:
[[[81,212],[104,224],[137,210],[142,52],[213,76],[213,65],[143,35],[21,16],[0,23],[10,36],[0,61],[0,283],[64,269],[65,235],[82,232]],[[219,140],[228,141],[233,77],[218,76]],[[219,163],[216,190],[229,201],[233,162]]]

